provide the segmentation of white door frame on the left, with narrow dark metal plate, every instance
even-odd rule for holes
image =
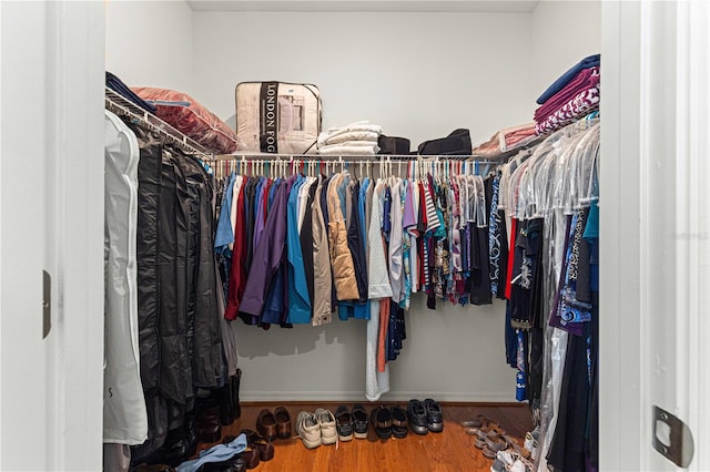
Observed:
[[[101,2],[0,2],[1,470],[101,469],[103,41]]]

